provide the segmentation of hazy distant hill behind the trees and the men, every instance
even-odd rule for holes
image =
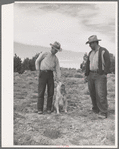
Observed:
[[[33,45],[26,45],[21,43],[14,43],[14,54],[16,53],[22,60],[25,58],[32,58],[37,53],[43,51],[50,51],[49,47],[42,47],[42,46],[33,46]],[[62,52],[57,53],[57,57],[60,61],[60,66],[69,67],[69,68],[80,68],[80,64],[83,61],[83,52],[73,52],[63,50]]]

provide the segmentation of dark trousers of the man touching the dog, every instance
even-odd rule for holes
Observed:
[[[52,71],[40,71],[38,80],[38,111],[43,111],[44,93],[47,85],[47,110],[52,108],[52,100],[54,95],[54,79]]]

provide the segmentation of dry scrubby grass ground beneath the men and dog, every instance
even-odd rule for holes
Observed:
[[[113,146],[115,145],[115,75],[108,75],[107,119],[91,111],[87,83],[76,78],[75,70],[62,71],[66,86],[68,112],[38,115],[38,74],[14,73],[14,145]],[[46,93],[45,105],[46,108]]]

